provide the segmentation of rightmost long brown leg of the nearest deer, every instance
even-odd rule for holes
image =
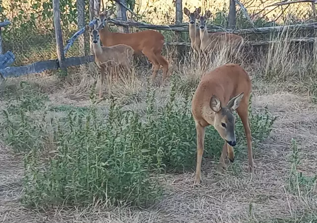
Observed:
[[[252,154],[252,138],[251,138],[251,129],[249,124],[249,114],[248,114],[248,100],[249,97],[246,97],[244,101],[240,103],[240,106],[237,109],[237,112],[242,120],[244,131],[246,133],[247,145],[248,145],[248,172],[254,171],[254,162]]]

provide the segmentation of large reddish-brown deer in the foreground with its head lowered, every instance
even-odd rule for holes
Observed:
[[[249,98],[252,91],[248,73],[238,64],[224,64],[205,74],[193,96],[192,114],[197,133],[197,166],[195,184],[201,183],[201,164],[204,152],[205,128],[212,125],[224,139],[218,171],[225,166],[225,158],[234,160],[233,147],[236,145],[235,116],[240,116],[247,138],[248,171],[254,169],[252,157],[251,129],[248,118]]]

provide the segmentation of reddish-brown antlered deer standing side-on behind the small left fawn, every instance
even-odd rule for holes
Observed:
[[[112,13],[113,9],[111,8],[96,14],[98,26],[104,24],[104,28],[99,31],[103,46],[110,47],[117,44],[125,44],[132,47],[136,55],[144,54],[153,64],[152,83],[156,79],[160,65],[162,65],[163,82],[168,72],[168,61],[161,55],[165,42],[164,36],[154,30],[145,30],[137,33],[112,33],[108,27],[108,19]]]

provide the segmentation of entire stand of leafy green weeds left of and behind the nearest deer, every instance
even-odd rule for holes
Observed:
[[[158,174],[193,168],[196,162],[192,92],[176,83],[171,82],[169,99],[161,107],[156,107],[154,91],[148,89],[145,114],[124,111],[111,99],[105,115],[94,97],[84,112],[61,109],[65,115],[58,118],[49,106],[42,108],[42,118],[23,109],[4,111],[4,141],[26,152],[23,203],[45,208],[103,200],[148,206],[158,200]],[[250,113],[256,143],[268,136],[274,119],[268,113],[252,113],[251,107]],[[236,127],[239,144],[245,146],[240,119]],[[21,129],[19,135],[16,129]],[[222,144],[210,127],[207,156],[219,157]]]

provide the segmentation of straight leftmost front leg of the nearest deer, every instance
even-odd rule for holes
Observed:
[[[194,184],[201,184],[201,166],[202,158],[204,153],[204,139],[205,139],[205,127],[200,123],[196,123],[196,133],[197,133],[197,164],[196,164],[196,178]]]

